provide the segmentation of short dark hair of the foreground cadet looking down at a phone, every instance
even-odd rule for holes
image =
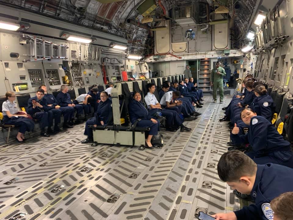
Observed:
[[[218,163],[218,174],[224,182],[237,182],[242,176],[256,174],[256,163],[239,150],[224,153]]]

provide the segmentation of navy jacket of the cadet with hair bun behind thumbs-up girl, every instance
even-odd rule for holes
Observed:
[[[262,116],[270,121],[272,120],[275,105],[272,97],[269,95],[262,95],[256,97],[252,101],[250,108],[252,108],[258,116]]]

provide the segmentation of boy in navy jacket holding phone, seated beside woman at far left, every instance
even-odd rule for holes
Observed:
[[[58,122],[60,122],[61,111],[51,112],[51,114],[48,113],[49,109],[47,105],[47,100],[43,99],[44,93],[44,90],[38,89],[36,96],[30,98],[27,101],[27,113],[29,113],[34,119],[40,120],[41,136],[50,137],[49,134],[54,134],[59,131]],[[55,119],[55,132],[51,130],[53,118]],[[48,127],[47,133],[45,132],[46,127]]]

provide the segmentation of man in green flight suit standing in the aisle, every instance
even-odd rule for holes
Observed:
[[[224,90],[223,90],[223,77],[226,76],[224,68],[221,67],[221,62],[216,62],[216,67],[212,69],[211,72],[211,87],[213,86],[213,99],[217,102],[217,89],[219,88],[220,103],[224,100]]]

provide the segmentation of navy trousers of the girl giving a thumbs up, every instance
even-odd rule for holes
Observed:
[[[276,163],[293,168],[292,151],[276,151],[266,156],[259,156],[255,152],[246,153],[256,164]]]

